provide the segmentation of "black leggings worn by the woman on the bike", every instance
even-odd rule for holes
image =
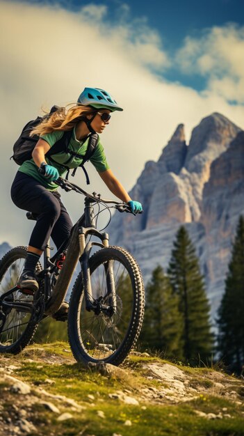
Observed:
[[[29,245],[44,250],[51,236],[56,247],[70,236],[72,221],[57,191],[48,191],[27,174],[17,172],[11,187],[11,198],[18,208],[38,216]]]

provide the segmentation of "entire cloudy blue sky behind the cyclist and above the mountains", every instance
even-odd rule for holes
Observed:
[[[127,190],[183,123],[186,141],[217,111],[244,129],[244,1],[0,0],[0,242],[29,236],[10,201],[9,160],[23,125],[85,86],[124,107],[102,134],[111,169]],[[92,166],[90,190],[109,196]],[[83,182],[76,172],[74,182]],[[140,201],[140,198],[138,198]],[[69,194],[67,208],[79,215]]]

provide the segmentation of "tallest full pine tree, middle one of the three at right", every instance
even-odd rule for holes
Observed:
[[[182,341],[187,361],[211,357],[213,335],[209,322],[209,303],[195,248],[184,226],[179,228],[168,267],[170,283],[179,297],[184,319]]]

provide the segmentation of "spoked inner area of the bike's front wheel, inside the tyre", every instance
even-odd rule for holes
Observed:
[[[80,334],[83,346],[92,357],[113,354],[124,340],[133,307],[133,289],[129,274],[117,260],[109,260],[91,274],[94,311],[81,303]]]

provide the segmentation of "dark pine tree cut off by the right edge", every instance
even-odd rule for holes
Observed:
[[[218,311],[218,349],[231,371],[244,364],[244,218],[240,217]]]

